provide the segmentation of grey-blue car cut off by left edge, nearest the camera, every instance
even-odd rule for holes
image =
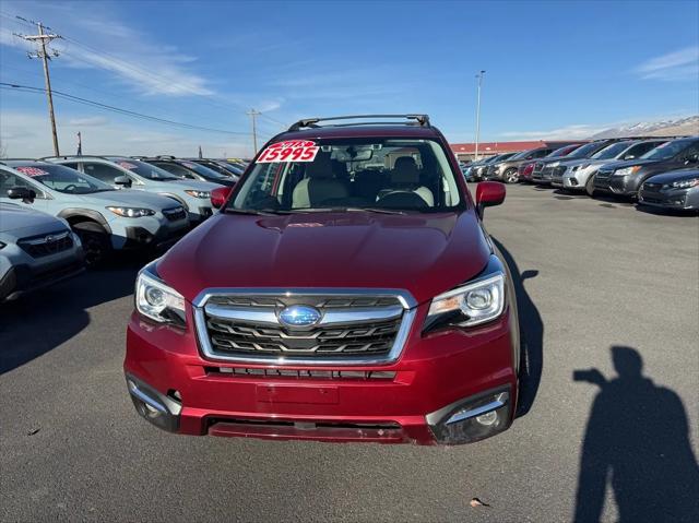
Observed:
[[[0,302],[82,271],[80,238],[64,219],[0,202]]]

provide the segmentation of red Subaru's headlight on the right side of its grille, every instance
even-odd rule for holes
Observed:
[[[503,309],[505,274],[498,271],[434,298],[426,321],[443,319],[459,326],[473,326],[495,320]]]

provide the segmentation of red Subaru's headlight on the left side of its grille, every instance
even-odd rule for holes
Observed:
[[[154,265],[151,263],[139,273],[135,308],[141,314],[158,323],[185,326],[185,298],[154,274]]]

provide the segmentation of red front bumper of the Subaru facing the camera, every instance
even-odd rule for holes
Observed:
[[[418,308],[398,361],[352,367],[204,359],[190,330],[134,313],[127,332],[128,387],[142,416],[155,425],[163,418],[161,428],[185,435],[453,444],[506,430],[517,404],[519,350],[510,310],[469,331],[423,335],[417,325],[426,309]],[[143,406],[134,387],[159,405]],[[487,414],[483,405],[503,394],[497,415],[489,416],[497,419],[476,421]],[[158,414],[167,407],[163,399],[175,402],[177,413]],[[486,421],[495,426],[482,432]]]

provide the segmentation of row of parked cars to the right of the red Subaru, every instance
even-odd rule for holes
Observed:
[[[466,178],[532,182],[590,197],[630,198],[642,205],[699,210],[699,136],[596,140],[528,158],[540,151],[495,159],[484,175],[469,173]]]

